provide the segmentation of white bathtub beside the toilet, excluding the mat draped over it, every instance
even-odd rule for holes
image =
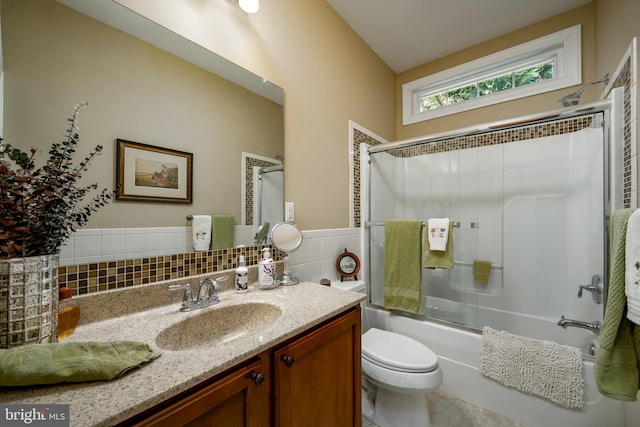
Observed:
[[[477,308],[476,308],[477,310]],[[571,410],[558,406],[545,399],[531,396],[518,390],[502,386],[488,380],[478,372],[478,352],[481,335],[476,332],[459,329],[427,320],[391,314],[385,310],[365,307],[363,330],[377,327],[412,337],[433,350],[439,358],[444,381],[440,390],[474,403],[478,406],[498,412],[508,418],[528,426],[563,427],[610,427],[624,426],[624,408],[620,401],[602,396],[593,378],[593,357],[587,353],[592,344],[597,344],[591,332],[556,325],[557,319],[525,318],[513,313],[482,310],[478,318],[491,319],[494,329],[505,329],[518,335],[538,339],[553,339],[562,344],[574,345],[585,353],[584,409]],[[486,312],[483,312],[486,311]],[[495,322],[504,321],[504,325],[529,327],[515,331],[512,328],[500,328]],[[546,337],[544,334],[549,334]],[[564,342],[562,342],[564,341]]]

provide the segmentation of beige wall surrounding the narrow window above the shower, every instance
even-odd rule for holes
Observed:
[[[396,80],[396,138],[398,140],[415,138],[431,133],[443,132],[475,124],[489,123],[497,120],[560,108],[560,105],[557,102],[558,99],[575,90],[574,88],[565,88],[533,97],[504,102],[489,107],[403,126],[401,103],[402,85],[420,77],[473,61],[474,59],[508,49],[515,45],[563,30],[576,24],[582,25],[582,80],[583,82],[593,80],[596,78],[594,9],[594,4],[589,3],[569,12],[556,15],[550,19],[524,27],[488,42],[480,43],[452,55],[448,55],[444,58],[437,59],[412,70],[398,74],[398,78]],[[578,86],[576,86],[576,88],[577,87]],[[602,89],[602,86],[600,89]],[[596,89],[588,90],[584,93],[583,100],[597,99],[598,94],[599,92]]]

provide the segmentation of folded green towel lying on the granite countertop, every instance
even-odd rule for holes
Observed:
[[[0,387],[112,380],[158,357],[135,341],[29,344],[0,350]]]

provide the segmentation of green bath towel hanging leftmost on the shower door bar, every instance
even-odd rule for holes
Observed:
[[[384,306],[387,310],[420,311],[421,221],[384,223]]]

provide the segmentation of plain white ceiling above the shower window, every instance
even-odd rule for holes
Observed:
[[[327,0],[396,73],[592,0]]]

